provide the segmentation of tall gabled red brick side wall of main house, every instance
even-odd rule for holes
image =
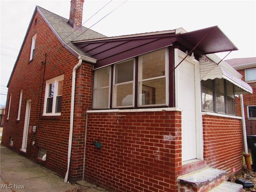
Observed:
[[[36,19],[36,22],[35,22]],[[72,85],[72,70],[78,63],[66,48],[64,48],[40,14],[36,13],[32,26],[25,39],[20,58],[16,64],[10,81],[6,114],[8,114],[9,98],[12,94],[10,118],[4,121],[2,144],[9,146],[10,137],[14,138],[12,149],[20,152],[26,112],[26,100],[31,100],[30,126],[38,126],[36,133],[28,136],[26,156],[33,160],[38,158],[38,148],[46,148],[45,166],[64,177],[67,170],[68,137],[70,130],[70,100]],[[29,61],[32,36],[36,36],[34,59]],[[46,54],[46,68],[44,64]],[[44,107],[45,81],[64,74],[61,116],[42,116]],[[43,79],[44,76],[44,79]],[[42,82],[43,88],[42,88]],[[82,87],[82,85],[84,87]],[[88,88],[86,90],[86,88]],[[23,90],[20,120],[17,121],[20,90]],[[78,69],[76,79],[76,105],[74,119],[74,140],[72,145],[72,161],[69,180],[82,178],[82,161],[84,148],[85,111],[91,106],[92,98],[92,65],[82,64]],[[88,96],[88,97],[87,97]],[[41,104],[41,108],[40,108]],[[32,146],[32,142],[36,146]]]

